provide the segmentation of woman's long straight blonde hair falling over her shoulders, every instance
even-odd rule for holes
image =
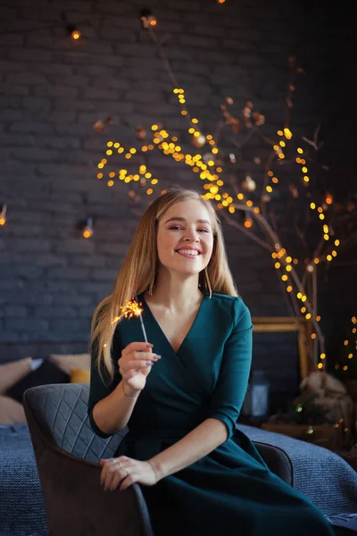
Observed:
[[[168,189],[165,194],[154,200],[141,217],[134,239],[121,264],[112,293],[104,297],[93,314],[89,346],[92,351],[94,348],[97,351],[96,364],[99,372],[101,373],[104,364],[111,379],[114,375],[111,357],[112,339],[116,327],[113,319],[119,314],[120,306],[126,304],[133,297],[134,292],[138,295],[154,288],[158,264],[157,225],[172,205],[188,199],[200,201],[206,207],[212,221],[212,256],[206,269],[199,274],[200,287],[209,291],[210,295],[212,292],[228,296],[238,295],[228,266],[220,220],[212,204],[203,199],[195,190]]]

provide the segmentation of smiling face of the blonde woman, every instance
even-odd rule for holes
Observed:
[[[160,269],[198,275],[210,262],[212,249],[212,221],[200,201],[180,201],[163,214],[157,231]]]

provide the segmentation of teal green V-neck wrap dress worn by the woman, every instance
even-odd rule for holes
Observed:
[[[271,473],[253,442],[236,429],[252,361],[252,320],[239,297],[203,293],[187,337],[174,352],[140,295],[147,339],[162,359],[154,364],[116,456],[147,460],[207,418],[219,419],[228,440],[207,456],[155,486],[142,486],[156,536],[332,536],[322,512]],[[114,333],[115,370],[121,349],[144,340],[138,318],[122,320]],[[95,353],[95,352],[94,352]],[[92,372],[88,414],[119,383],[106,387]]]

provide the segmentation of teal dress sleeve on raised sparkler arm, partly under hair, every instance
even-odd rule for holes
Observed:
[[[98,366],[96,364],[96,357],[98,353],[98,345],[97,342],[93,345],[91,349],[91,365],[90,365],[90,384],[89,384],[89,400],[88,400],[88,417],[89,422],[92,427],[92,430],[95,431],[95,433],[100,436],[101,438],[110,438],[112,434],[107,434],[104,431],[100,430],[100,428],[95,423],[94,417],[93,417],[93,408],[99,400],[102,400],[103,398],[106,398],[108,395],[111,394],[112,390],[117,387],[119,382],[121,381],[121,376],[118,370],[118,355],[120,355],[120,347],[119,341],[118,341],[118,332],[114,332],[113,337],[113,343],[112,343],[112,362],[114,365],[114,378],[111,380],[109,374],[107,373],[104,365],[102,365],[101,373],[103,376],[103,379],[101,378],[98,370]],[[118,354],[119,352],[119,354]]]

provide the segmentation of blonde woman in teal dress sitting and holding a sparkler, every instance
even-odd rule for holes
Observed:
[[[134,292],[148,344],[138,318],[115,322]],[[91,345],[93,429],[108,437],[129,426],[116,457],[101,460],[101,482],[140,483],[156,536],[333,534],[236,430],[252,321],[219,220],[198,193],[169,190],[146,210],[95,310]]]

